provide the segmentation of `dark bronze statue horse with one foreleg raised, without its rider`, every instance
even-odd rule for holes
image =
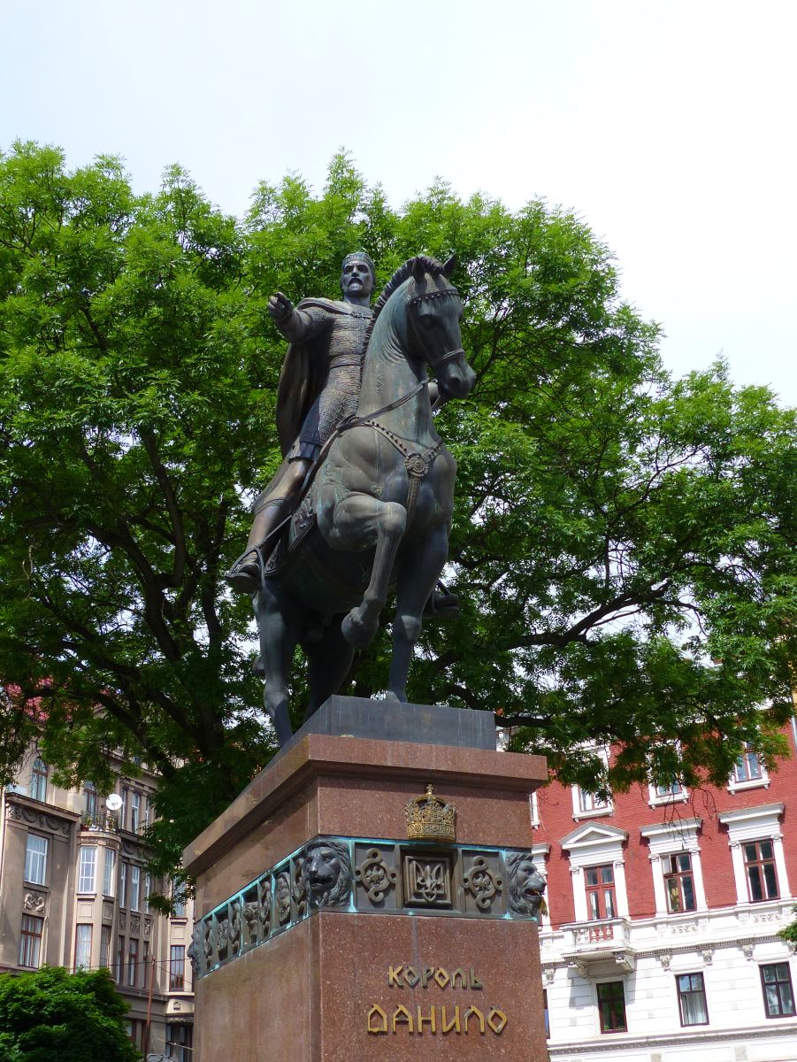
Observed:
[[[307,719],[339,690],[354,648],[374,638],[394,584],[387,698],[406,701],[423,606],[448,558],[456,472],[434,428],[427,365],[444,400],[465,397],[475,379],[462,348],[452,268],[453,259],[443,266],[419,255],[382,292],[358,412],[325,447],[255,595],[264,702],[280,746],[291,736],[288,678],[296,646],[308,660]]]

